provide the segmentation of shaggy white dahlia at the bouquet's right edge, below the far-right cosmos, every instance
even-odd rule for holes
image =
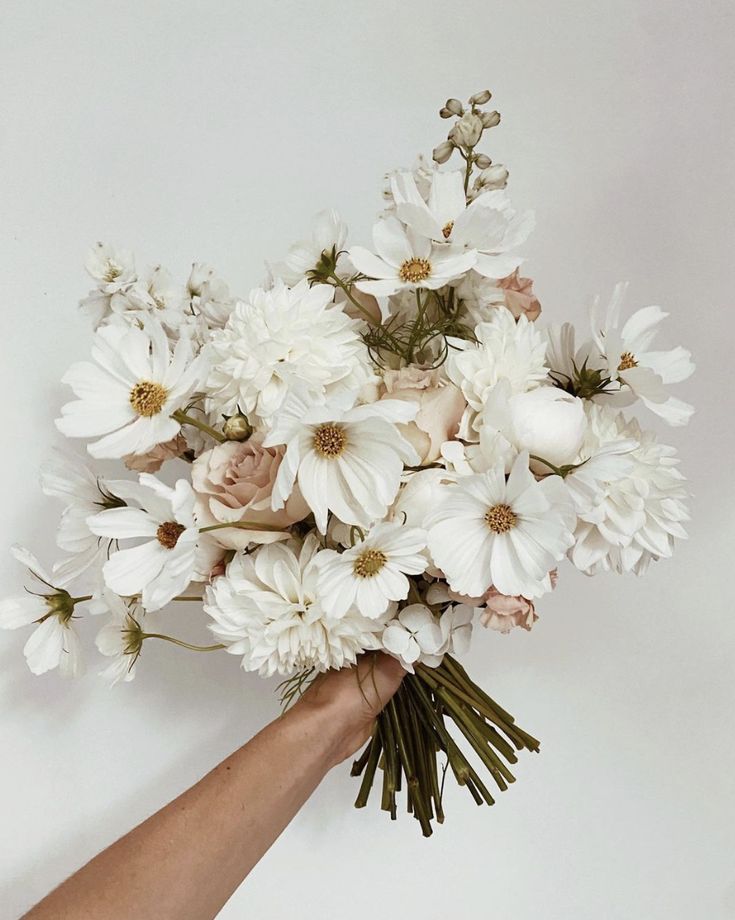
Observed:
[[[579,523],[570,559],[590,575],[610,570],[641,574],[652,559],[671,556],[676,539],[686,538],[682,522],[689,519],[687,491],[676,451],[609,407],[590,405],[587,414],[583,451],[602,451],[620,442],[637,446],[607,473],[597,471],[594,501],[585,508],[577,499]],[[621,470],[621,461],[627,472]]]

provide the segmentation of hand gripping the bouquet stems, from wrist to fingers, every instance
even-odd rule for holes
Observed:
[[[291,710],[325,717],[332,739],[331,766],[351,757],[370,737],[375,719],[406,676],[383,652],[361,655],[357,665],[320,674]]]

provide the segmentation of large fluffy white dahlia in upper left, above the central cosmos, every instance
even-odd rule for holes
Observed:
[[[294,390],[312,403],[341,398],[353,405],[373,376],[360,324],[332,303],[328,285],[276,282],[235,307],[206,349],[213,411],[267,422]]]

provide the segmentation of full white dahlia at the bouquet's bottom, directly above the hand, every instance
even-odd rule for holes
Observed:
[[[315,562],[319,547],[311,534],[301,547],[271,543],[237,555],[207,588],[204,610],[214,620],[209,628],[230,654],[242,656],[246,671],[263,677],[326,671],[380,647],[381,620],[356,610],[327,615]]]

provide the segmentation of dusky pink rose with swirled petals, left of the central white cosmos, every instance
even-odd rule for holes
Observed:
[[[206,451],[192,464],[191,479],[196,493],[196,514],[200,527],[249,521],[271,530],[239,530],[226,527],[210,536],[227,549],[245,549],[250,543],[274,543],[288,537],[287,529],[309,514],[309,507],[294,489],[286,507],[271,510],[271,492],[283,459],[283,447],[263,447],[262,435],[249,441],[226,441]]]

